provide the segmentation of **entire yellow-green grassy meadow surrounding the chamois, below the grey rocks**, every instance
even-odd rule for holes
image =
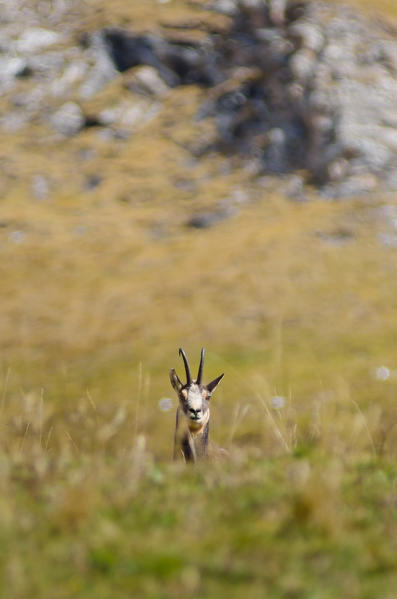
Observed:
[[[197,17],[79,11],[81,30]],[[241,159],[197,160],[205,94],[172,90],[128,139],[2,133],[0,597],[396,596],[397,197],[294,202]],[[194,468],[171,461],[180,346],[225,372],[211,436],[229,457]]]

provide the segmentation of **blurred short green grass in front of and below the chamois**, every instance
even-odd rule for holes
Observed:
[[[395,464],[298,454],[195,469],[136,447],[4,462],[7,594],[392,597]]]

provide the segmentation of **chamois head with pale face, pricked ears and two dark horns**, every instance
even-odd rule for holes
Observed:
[[[209,400],[213,391],[218,386],[223,374],[208,383],[202,384],[203,366],[204,366],[204,348],[201,350],[200,366],[196,379],[192,379],[189,363],[182,348],[179,348],[179,355],[182,356],[185,364],[186,384],[184,385],[174,368],[170,371],[171,385],[179,397],[180,407],[188,420],[190,430],[201,429],[209,418]]]

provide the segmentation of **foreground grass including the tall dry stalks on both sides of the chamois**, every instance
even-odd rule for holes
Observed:
[[[186,468],[134,376],[129,402],[4,393],[4,596],[394,596],[393,381],[367,380],[371,403],[342,379],[280,409],[264,383],[214,396],[229,457]]]

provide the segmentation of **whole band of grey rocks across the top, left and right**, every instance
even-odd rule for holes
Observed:
[[[21,0],[15,5],[30,10]],[[62,20],[67,2],[55,5]],[[128,135],[158,112],[170,89],[200,85],[208,94],[197,118],[212,118],[216,128],[200,152],[240,156],[261,175],[299,173],[332,197],[397,186],[397,34],[356,9],[214,0],[207,8],[228,24],[200,42],[188,31],[176,39],[106,28],[76,43],[34,13],[30,27],[18,25],[15,6],[6,6],[0,95],[10,106],[0,126],[7,131],[39,119],[63,137],[88,125]],[[87,116],[84,103],[137,66],[130,99]],[[30,81],[23,93],[21,79]]]

